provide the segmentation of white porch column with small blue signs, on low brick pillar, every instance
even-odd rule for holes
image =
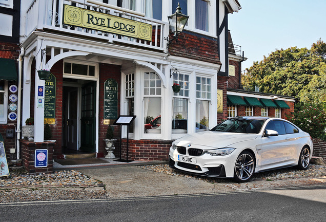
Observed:
[[[38,40],[36,51],[36,69],[42,69],[41,61],[41,51],[40,44]],[[42,46],[46,48],[46,46]],[[45,60],[45,58],[43,58]],[[43,63],[45,65],[45,61]],[[43,142],[44,141],[44,85],[45,81],[38,78],[37,70],[35,70],[35,90],[34,90],[34,142]]]

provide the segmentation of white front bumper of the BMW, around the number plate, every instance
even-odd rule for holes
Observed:
[[[195,175],[208,176],[208,177],[233,177],[234,166],[238,151],[236,149],[231,154],[226,156],[212,156],[208,153],[200,156],[190,156],[187,152],[186,155],[179,154],[177,150],[170,147],[169,152],[169,165],[172,169],[177,171],[191,173]],[[196,158],[196,163],[187,163],[178,161],[178,155]]]

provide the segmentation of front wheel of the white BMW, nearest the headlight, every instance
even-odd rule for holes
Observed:
[[[255,161],[253,155],[248,151],[243,151],[235,162],[233,179],[237,182],[247,182],[252,178],[254,170]]]

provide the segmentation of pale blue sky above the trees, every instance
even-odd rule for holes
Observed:
[[[247,61],[241,70],[276,49],[311,48],[326,42],[326,0],[238,0],[242,9],[229,14],[233,44]]]

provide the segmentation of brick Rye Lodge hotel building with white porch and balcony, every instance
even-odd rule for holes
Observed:
[[[130,159],[166,160],[173,140],[212,128],[233,112],[231,106],[232,115],[246,114],[247,105],[235,103],[234,98],[280,100],[293,108],[293,98],[242,90],[244,58],[228,32],[228,16],[241,9],[237,0],[8,2],[13,8],[7,14],[21,13],[20,34],[13,31],[7,47],[12,44],[10,59],[18,59],[21,51],[23,64],[16,68],[23,75],[16,83],[22,85],[17,84],[17,96],[22,89],[22,98],[17,101],[18,124],[5,118],[0,129],[5,132],[10,126],[17,132],[12,141],[6,140],[7,152],[12,143],[17,158],[21,158],[19,144],[50,147],[54,159],[69,153],[103,157],[111,125],[118,139],[116,155],[121,142],[126,158],[128,136]],[[178,2],[189,20],[178,39],[172,40],[168,16]],[[19,27],[14,22],[13,27]],[[47,70],[49,76],[42,77]],[[11,85],[10,81],[5,84]],[[174,84],[181,87],[178,93]],[[261,109],[257,107],[252,105],[255,115]],[[269,107],[268,115],[275,109]],[[281,109],[282,117],[285,113]],[[128,132],[127,126],[121,127],[121,141],[120,126],[113,125],[120,115],[136,116]],[[32,135],[21,135],[29,118],[34,118]],[[55,142],[45,141],[45,123]],[[30,168],[28,162],[23,164]]]

